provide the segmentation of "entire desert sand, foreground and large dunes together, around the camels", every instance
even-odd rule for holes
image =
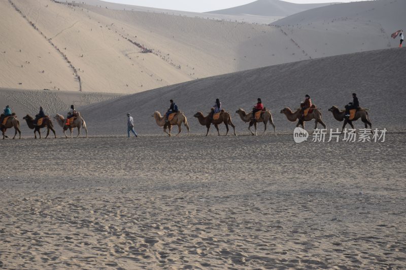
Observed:
[[[331,5],[272,26],[100,3],[0,1],[0,107],[22,129],[0,141],[0,268],[406,267],[406,51],[389,39],[406,2]],[[327,109],[353,92],[385,141],[294,142],[282,108],[309,94],[335,131],[343,123]],[[248,135],[236,115],[258,97],[278,136]],[[205,137],[193,118],[216,98],[238,136]],[[170,99],[190,136],[155,124]],[[33,139],[25,114],[70,104],[89,138],[65,139],[54,122],[57,139]],[[138,138],[126,138],[127,112]]]

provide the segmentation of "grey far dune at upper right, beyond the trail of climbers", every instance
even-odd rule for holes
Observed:
[[[404,27],[405,1],[365,1],[304,11],[274,23],[303,51],[324,56],[398,47],[391,33]],[[314,41],[316,38],[316,41]],[[348,52],[348,51],[347,51]]]

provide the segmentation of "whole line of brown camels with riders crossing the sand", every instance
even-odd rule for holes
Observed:
[[[171,99],[171,105],[167,109],[165,114],[161,114],[159,111],[155,111],[152,114],[152,117],[155,119],[156,124],[159,127],[163,128],[163,132],[165,132],[168,136],[172,136],[172,126],[178,126],[178,134],[176,136],[179,136],[182,132],[182,125],[186,127],[187,129],[187,134],[190,134],[190,128],[189,124],[186,118],[186,115],[178,109],[178,106],[176,103]],[[324,129],[326,129],[326,125],[323,122],[323,117],[322,113],[320,111],[321,109],[318,108],[315,104],[312,104],[312,101],[310,99],[309,95],[306,95],[306,99],[304,102],[301,102],[300,108],[294,109],[292,111],[289,107],[284,107],[281,110],[281,113],[285,114],[286,118],[290,122],[296,122],[296,127],[301,126],[304,129],[304,123],[313,121],[315,123],[314,129],[317,129],[318,124],[321,124]],[[367,112],[368,109],[366,108],[361,108],[359,106],[358,98],[356,97],[356,94],[353,94],[353,102],[350,102],[348,105],[345,106],[345,109],[340,110],[337,106],[332,106],[331,108],[328,109],[328,111],[331,111],[333,114],[333,118],[337,121],[343,122],[344,125],[342,128],[342,133],[346,127],[347,124],[351,126],[352,129],[354,129],[353,122],[357,121],[358,119],[361,119],[361,121],[365,125],[365,129],[369,126],[369,128],[372,130],[372,124],[369,120],[369,115]],[[264,125],[264,130],[261,135],[264,135],[267,130],[267,124],[269,123],[270,125],[273,126],[274,128],[274,134],[277,136],[276,133],[276,127],[274,124],[274,120],[272,118],[272,113],[270,110],[266,109],[260,98],[258,98],[258,103],[253,107],[253,109],[249,112],[246,112],[244,109],[239,108],[238,110],[235,111],[236,114],[238,114],[241,118],[241,120],[245,123],[248,124],[248,130],[250,131],[251,135],[257,135],[257,124],[258,123],[263,123]],[[127,113],[129,116],[129,113]],[[205,116],[201,111],[196,112],[193,117],[195,117],[198,121],[198,123],[202,126],[205,126],[207,131],[206,131],[206,136],[208,136],[210,127],[211,125],[214,125],[214,127],[217,130],[218,136],[220,136],[220,131],[219,131],[219,125],[224,124],[226,127],[226,133],[225,136],[228,135],[229,132],[229,126],[232,127],[233,129],[233,134],[236,136],[235,133],[235,126],[232,123],[231,115],[229,112],[225,111],[222,106],[221,102],[219,99],[216,99],[216,102],[214,106],[211,108],[211,111],[208,112],[208,114]],[[48,138],[50,131],[53,132],[54,137],[56,138],[56,133],[53,127],[52,119],[48,116],[45,115],[43,108],[40,107],[40,113],[36,115],[35,118],[31,117],[29,114],[25,115],[23,119],[26,121],[28,128],[32,129],[34,131],[34,136],[37,139],[37,133],[39,134],[39,137],[41,139],[41,129],[46,128],[47,129],[47,135],[45,138]],[[76,111],[74,105],[71,105],[71,108],[69,112],[67,113],[67,117],[64,118],[63,115],[56,114],[55,117],[53,118],[58,125],[62,128],[63,134],[65,135],[65,138],[69,138],[69,136],[66,135],[66,130],[69,130],[71,132],[71,139],[73,138],[73,129],[77,128],[78,130],[78,135],[76,138],[80,136],[81,129],[84,129],[86,132],[86,138],[88,138],[88,131],[86,127],[86,122],[83,119],[82,115],[80,112]],[[131,120],[132,121],[132,120]],[[131,122],[129,122],[131,123]],[[254,126],[255,132],[252,131],[252,126]],[[0,130],[2,131],[3,134],[3,139],[8,138],[6,136],[6,131],[7,129],[14,128],[15,134],[13,139],[17,136],[17,133],[19,133],[19,138],[21,138],[21,131],[20,131],[20,122],[17,119],[17,115],[15,113],[11,112],[10,106],[6,106],[4,113],[1,114],[0,117]],[[133,128],[133,122],[131,124],[131,127]],[[130,130],[130,129],[129,129]],[[372,132],[372,131],[371,131]],[[134,132],[134,134],[136,134]],[[129,132],[128,132],[129,135]],[[137,134],[136,134],[137,137]]]

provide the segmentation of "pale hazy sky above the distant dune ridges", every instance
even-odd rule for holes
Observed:
[[[255,0],[104,0],[106,2],[114,2],[128,4],[134,6],[143,6],[159,9],[192,11],[192,12],[207,12],[219,9],[226,9],[236,6],[245,5]],[[354,2],[354,0],[285,0],[297,4],[308,3],[330,3],[330,2]],[[360,0],[355,0],[360,1]]]

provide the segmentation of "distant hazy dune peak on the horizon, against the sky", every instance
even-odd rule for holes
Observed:
[[[232,14],[232,15],[259,15],[259,16],[279,16],[287,17],[302,11],[315,9],[331,5],[331,3],[323,4],[295,4],[279,0],[257,0],[255,2],[233,7],[229,9],[211,11],[209,13]]]

